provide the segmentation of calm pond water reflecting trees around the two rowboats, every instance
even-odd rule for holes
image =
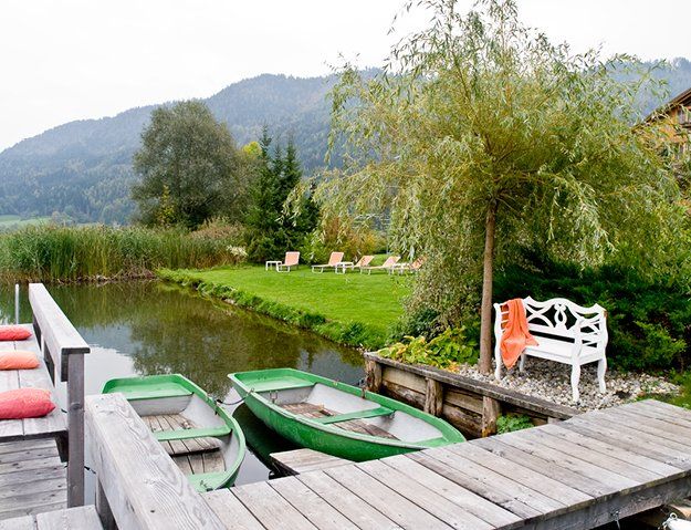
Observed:
[[[113,377],[180,373],[232,403],[239,397],[227,376],[232,372],[293,367],[349,384],[364,376],[362,356],[354,350],[175,285],[51,285],[49,291],[92,346],[85,361],[86,394],[100,393]],[[13,293],[4,288],[0,321],[13,319]],[[20,320],[31,321],[25,291]],[[266,479],[269,454],[293,447],[244,405],[228,408],[234,411],[250,448],[235,484]]]

